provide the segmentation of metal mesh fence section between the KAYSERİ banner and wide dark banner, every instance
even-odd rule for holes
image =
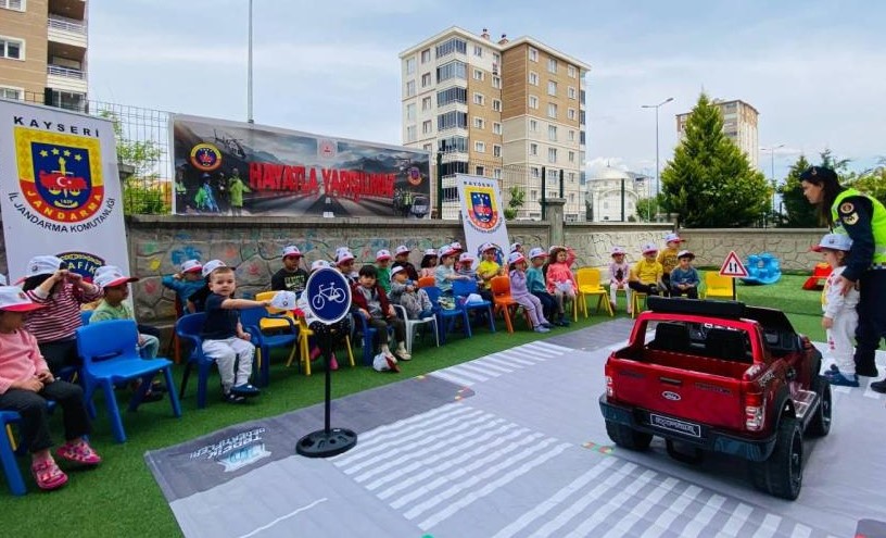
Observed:
[[[126,214],[168,214],[172,211],[173,162],[169,113],[141,107],[77,99],[59,92],[25,92],[25,101],[114,122],[117,161]]]

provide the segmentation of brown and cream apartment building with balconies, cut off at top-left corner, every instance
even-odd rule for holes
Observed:
[[[0,0],[0,98],[87,103],[87,2]]]

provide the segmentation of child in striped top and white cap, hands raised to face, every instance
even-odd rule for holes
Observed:
[[[37,338],[49,370],[58,375],[66,366],[78,366],[80,305],[100,299],[101,289],[68,271],[67,262],[54,255],[30,259],[22,289],[28,299],[46,306],[27,316],[25,328]]]

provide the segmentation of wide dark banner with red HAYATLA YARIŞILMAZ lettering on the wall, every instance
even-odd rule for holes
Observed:
[[[176,214],[430,218],[430,153],[174,114]]]

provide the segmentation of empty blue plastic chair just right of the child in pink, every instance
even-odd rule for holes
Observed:
[[[129,401],[129,411],[138,409],[145,392],[151,388],[151,379],[162,372],[169,392],[173,414],[181,416],[181,406],[173,383],[173,362],[167,359],[142,359],[138,351],[138,327],[131,320],[111,320],[77,329],[77,351],[83,359],[80,378],[84,385],[87,410],[94,417],[96,406],[92,396],[96,389],[104,391],[104,401],[110,414],[111,428],[117,442],[126,442],[123,420],[114,386],[141,379],[139,389]]]

